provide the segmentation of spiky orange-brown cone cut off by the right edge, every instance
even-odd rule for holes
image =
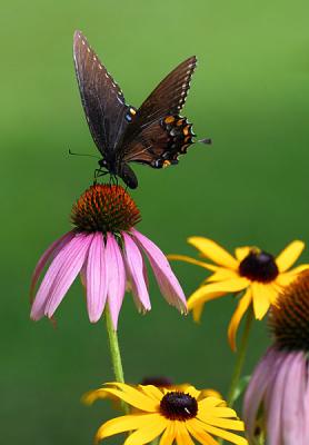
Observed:
[[[309,352],[309,270],[278,296],[269,326],[280,349]]]

